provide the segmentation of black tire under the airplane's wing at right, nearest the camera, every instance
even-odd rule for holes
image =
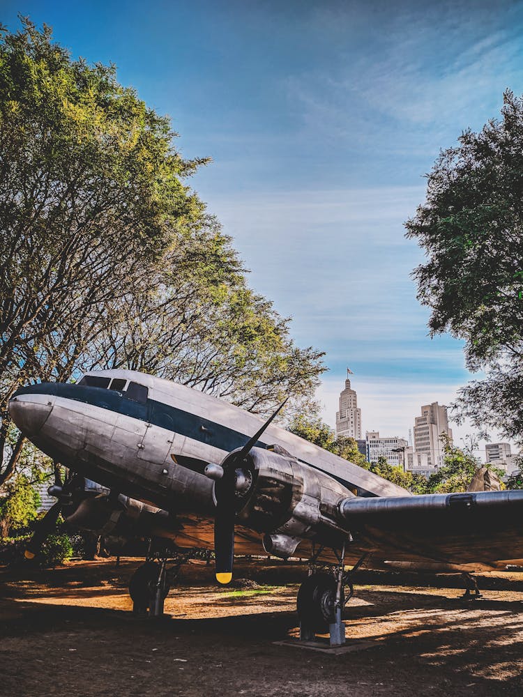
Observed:
[[[335,621],[336,585],[331,574],[312,574],[298,590],[298,618],[303,625],[318,634],[328,631],[328,625]],[[342,595],[342,607],[343,600]]]

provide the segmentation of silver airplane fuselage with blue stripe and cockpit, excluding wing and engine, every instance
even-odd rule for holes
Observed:
[[[77,384],[18,390],[10,413],[40,450],[112,491],[172,514],[213,516],[209,462],[242,447],[261,420],[225,401],[143,373],[107,370]],[[405,496],[400,487],[271,425],[259,447],[278,444],[333,489]]]

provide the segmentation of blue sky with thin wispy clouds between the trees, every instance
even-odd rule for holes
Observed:
[[[326,352],[326,422],[346,367],[386,436],[473,377],[461,342],[427,335],[403,224],[439,150],[523,93],[522,2],[0,0],[9,29],[17,13],[115,63],[185,158],[212,158],[190,184],[296,343]]]

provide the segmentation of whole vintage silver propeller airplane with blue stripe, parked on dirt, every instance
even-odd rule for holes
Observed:
[[[50,487],[58,501],[28,558],[60,512],[85,530],[214,549],[222,584],[232,581],[235,552],[263,546],[309,561],[297,600],[301,638],[328,628],[331,645],[344,643],[345,595],[361,565],[462,573],[467,595],[479,595],[471,573],[523,564],[523,491],[414,496],[273,424],[281,407],[263,422],[199,390],[109,369],[27,385],[8,408],[22,434],[69,470]],[[167,552],[157,558],[130,583],[135,609],[151,614],[169,590]]]

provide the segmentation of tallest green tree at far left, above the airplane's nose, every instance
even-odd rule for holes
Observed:
[[[114,66],[72,61],[49,27],[22,24],[0,41],[0,457],[20,382],[68,376],[107,303],[202,210],[182,179],[204,160],[181,158],[169,120]]]

